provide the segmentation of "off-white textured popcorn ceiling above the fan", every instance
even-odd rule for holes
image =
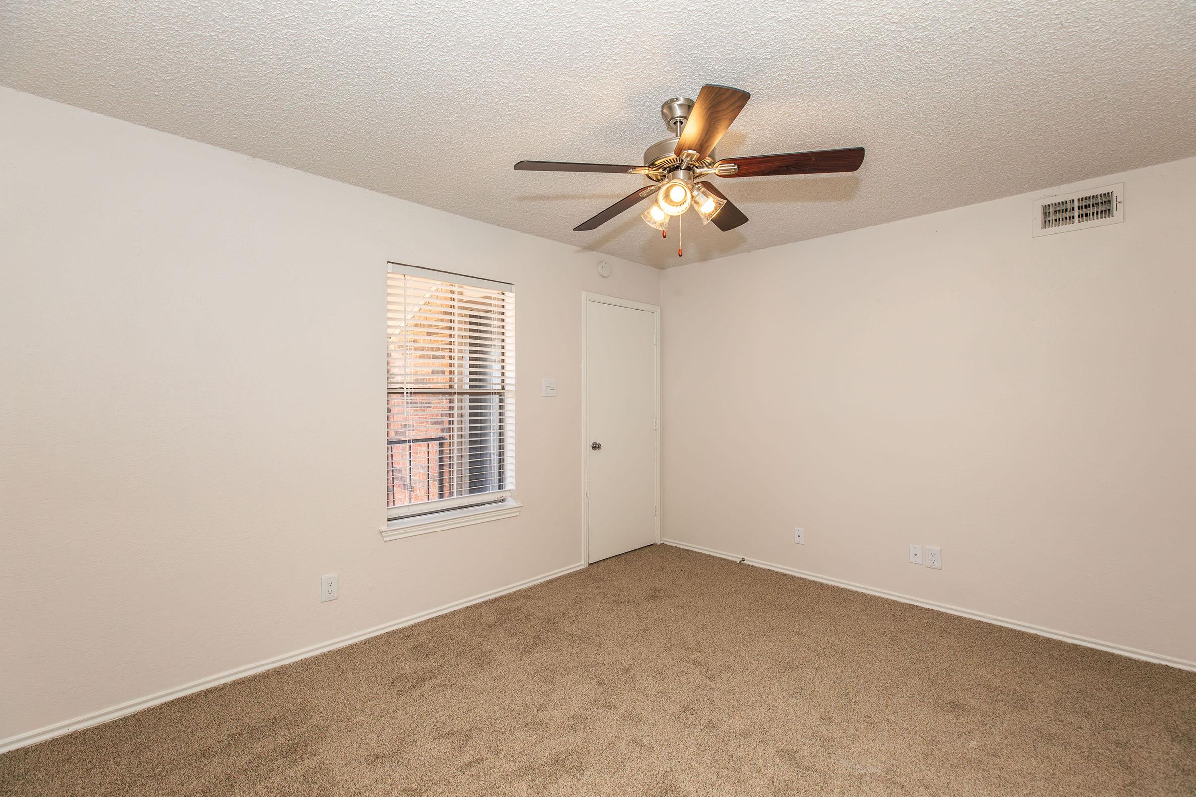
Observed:
[[[0,84],[671,266],[1194,155],[1194,43],[1192,0],[5,0]],[[752,93],[721,155],[864,167],[720,180],[751,221],[687,214],[683,259],[634,213],[572,231],[642,178],[512,170],[639,164],[703,82]]]

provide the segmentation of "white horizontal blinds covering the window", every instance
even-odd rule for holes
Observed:
[[[392,516],[501,497],[514,488],[511,286],[391,265],[386,293]]]

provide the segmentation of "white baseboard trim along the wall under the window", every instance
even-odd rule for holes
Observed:
[[[84,715],[83,717],[77,717],[67,722],[61,722],[54,725],[47,725],[38,730],[31,730],[25,734],[18,734],[16,736],[10,736],[8,738],[0,740],[0,753],[7,753],[8,750],[14,750],[19,747],[28,747],[29,744],[36,744],[37,742],[43,742],[48,738],[54,738],[55,736],[61,736],[62,734],[69,734],[73,730],[80,730],[83,728],[91,728],[92,725],[99,725],[105,722],[117,719],[120,717],[126,717],[130,713],[141,711],[142,709],[150,709],[167,700],[173,700],[175,698],[182,698],[195,692],[202,692],[203,689],[212,688],[213,686],[220,686],[221,683],[227,683],[230,681],[236,681],[237,679],[245,678],[246,675],[255,675],[268,669],[274,669],[275,667],[281,667],[282,664],[289,664],[293,661],[299,661],[300,658],[307,658],[309,656],[315,656],[317,654],[323,654],[329,650],[335,650],[337,648],[343,648],[344,645],[352,645],[354,642],[361,642],[370,637],[376,637],[379,633],[386,633],[388,631],[393,631],[396,629],[402,629],[407,625],[413,625],[420,620],[428,620],[439,614],[447,614],[459,608],[466,606],[472,606],[474,603],[481,603],[488,601],[492,597],[498,597],[500,595],[506,595],[507,593],[513,593],[526,587],[532,587],[535,584],[550,581],[559,576],[563,576],[576,570],[585,568],[584,562],[569,565],[568,568],[561,568],[560,570],[554,570],[551,572],[545,572],[541,576],[535,576],[520,581],[507,587],[500,587],[499,589],[492,589],[488,593],[482,593],[481,595],[474,595],[472,597],[465,597],[459,601],[453,601],[452,603],[446,603],[426,612],[420,612],[419,614],[411,614],[401,620],[393,620],[391,623],[384,623],[383,625],[376,625],[372,629],[366,629],[365,631],[358,631],[356,633],[350,633],[346,637],[340,637],[338,639],[332,639],[331,642],[324,642],[318,645],[311,645],[310,648],[304,648],[303,650],[295,650],[289,654],[283,654],[282,656],[275,656],[274,658],[267,658],[260,661],[256,664],[249,664],[248,667],[239,667],[237,669],[228,670],[227,673],[220,673],[219,675],[213,675],[210,678],[205,678],[199,681],[193,681],[184,686],[178,686],[172,689],[166,689],[165,692],[159,692],[157,694],[151,694],[146,698],[139,698],[136,700],[129,700],[128,703],[122,703],[118,706],[112,706],[111,709],[104,709],[102,711],[96,711],[90,715]]]

